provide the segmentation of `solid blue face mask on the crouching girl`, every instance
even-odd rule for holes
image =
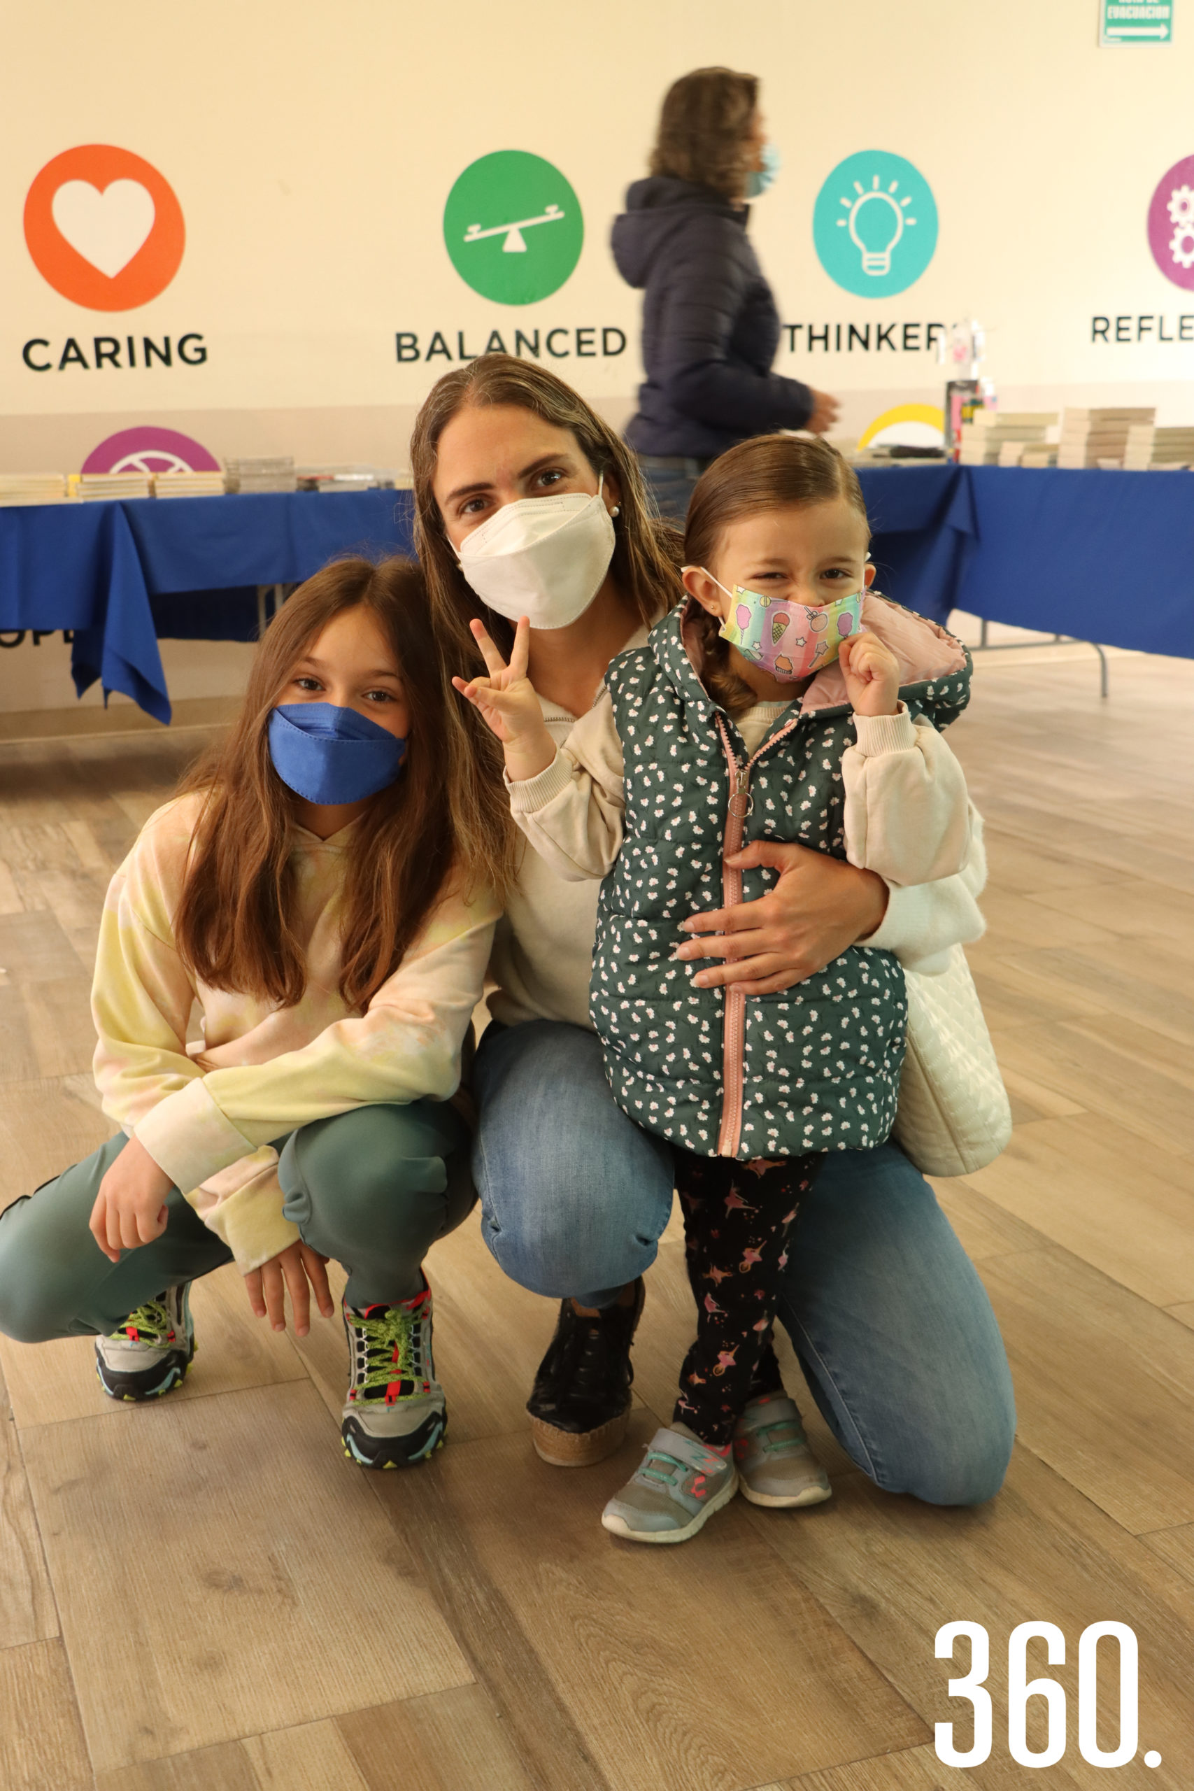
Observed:
[[[363,802],[397,777],[406,741],[356,709],[285,702],[270,715],[270,759],[308,802]]]

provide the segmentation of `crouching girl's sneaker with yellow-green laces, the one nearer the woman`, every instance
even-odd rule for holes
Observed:
[[[448,1411],[431,1359],[431,1290],[396,1306],[344,1304],[349,1397],[340,1436],[360,1467],[410,1467],[444,1442]]]

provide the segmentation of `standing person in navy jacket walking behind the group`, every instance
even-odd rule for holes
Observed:
[[[825,392],[772,373],[779,312],[746,236],[748,197],[779,158],[759,82],[696,68],[668,90],[650,176],[614,220],[618,270],[643,299],[639,408],[627,441],[664,516],[684,519],[696,478],[734,442],[775,430],[825,432]]]

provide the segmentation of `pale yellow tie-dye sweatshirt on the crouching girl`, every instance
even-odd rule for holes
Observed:
[[[91,1014],[104,1112],[138,1137],[243,1273],[295,1243],[277,1152],[310,1119],[371,1101],[448,1100],[482,999],[498,906],[446,892],[363,1014],[340,992],[344,827],[294,829],[295,931],[308,981],[295,1007],[208,989],[183,967],[174,915],[202,797],[150,815],[104,903]],[[202,1039],[188,1046],[192,1008]]]

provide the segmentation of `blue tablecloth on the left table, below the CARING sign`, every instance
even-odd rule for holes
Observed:
[[[98,679],[168,722],[158,634],[247,639],[260,584],[297,584],[347,552],[408,553],[408,494],[0,509],[0,632],[72,629],[79,695]]]

